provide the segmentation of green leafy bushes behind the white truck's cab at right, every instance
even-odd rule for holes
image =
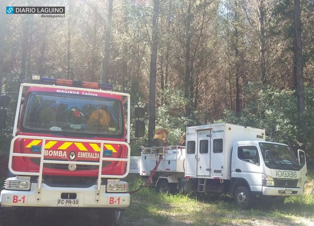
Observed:
[[[314,90],[305,87],[304,125],[298,126],[297,98],[295,91],[279,90],[272,86],[263,87],[256,91],[257,85],[250,83],[248,92],[255,92],[253,98],[246,104],[246,108],[237,117],[232,111],[225,110],[225,117],[215,122],[230,122],[244,126],[264,128],[268,141],[290,144],[294,149],[305,145],[307,160],[314,159],[314,141],[312,120],[314,110]],[[255,90],[255,91],[252,91]],[[300,137],[303,143],[300,143]]]

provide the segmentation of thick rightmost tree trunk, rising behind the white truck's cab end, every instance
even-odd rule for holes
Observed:
[[[301,8],[300,0],[295,0],[295,80],[296,80],[296,95],[298,99],[298,115],[299,128],[303,128],[303,111],[304,111],[304,84],[303,84],[303,56],[302,56],[302,27],[301,27]],[[303,136],[300,134],[300,143],[303,143]],[[304,147],[303,147],[304,148]]]

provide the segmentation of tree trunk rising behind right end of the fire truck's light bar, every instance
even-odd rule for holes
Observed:
[[[102,61],[102,83],[108,83],[108,66],[109,66],[109,48],[110,48],[110,34],[111,34],[111,19],[112,19],[112,4],[113,0],[109,0],[108,5],[108,17],[106,25],[106,39],[105,39],[105,49],[104,57]]]

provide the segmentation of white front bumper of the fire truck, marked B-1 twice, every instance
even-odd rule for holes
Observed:
[[[123,181],[120,181],[123,183]],[[124,182],[126,183],[126,182]],[[37,184],[32,183],[30,191],[1,191],[2,206],[33,207],[109,207],[126,208],[130,205],[129,193],[106,193],[106,185],[95,196],[97,185],[88,188],[60,188],[41,185],[40,201],[37,200]]]

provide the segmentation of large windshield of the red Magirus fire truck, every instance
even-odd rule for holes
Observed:
[[[123,136],[121,100],[73,94],[30,92],[22,113],[22,132]],[[71,136],[71,135],[69,135]],[[77,136],[77,135],[76,135]]]

